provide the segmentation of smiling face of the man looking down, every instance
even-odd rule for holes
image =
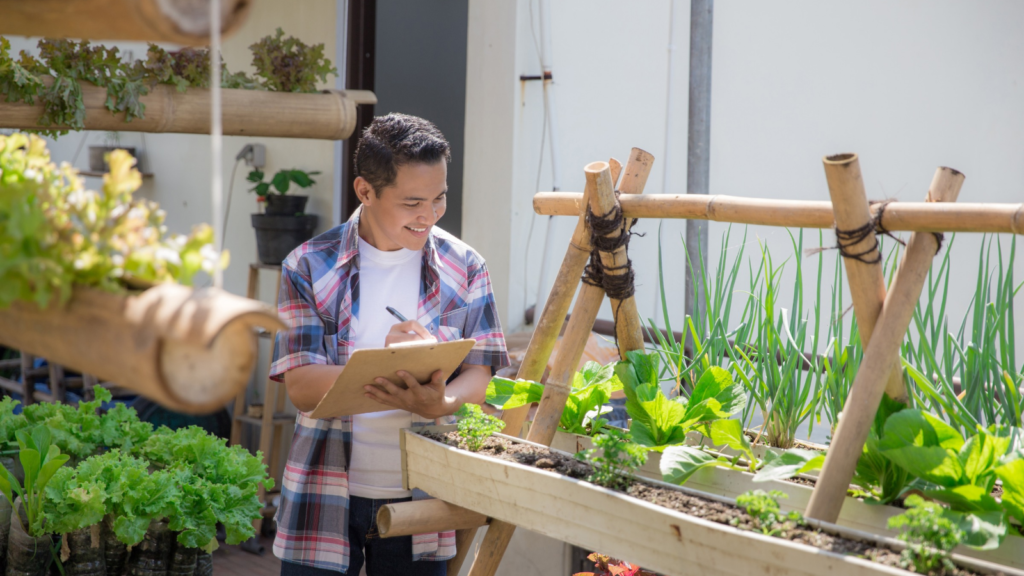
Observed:
[[[362,177],[355,178],[362,202],[359,236],[378,250],[421,250],[430,228],[444,215],[447,163],[412,162],[398,168],[394,183],[378,197]]]

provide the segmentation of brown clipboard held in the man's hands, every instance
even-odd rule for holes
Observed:
[[[466,360],[466,355],[475,344],[476,340],[464,338],[450,342],[415,341],[386,348],[357,349],[348,358],[344,370],[309,417],[334,418],[394,410],[367,398],[362,386],[377,385],[374,379],[383,377],[402,388],[409,387],[398,377],[398,370],[409,372],[421,382],[429,380],[431,374],[440,370],[446,379]]]

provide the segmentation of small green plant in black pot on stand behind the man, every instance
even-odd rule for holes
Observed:
[[[300,189],[313,186],[316,180],[312,176],[316,174],[319,172],[293,168],[280,170],[269,181],[264,181],[261,170],[249,172],[247,179],[255,184],[250,192],[255,192],[257,202],[265,205],[263,213],[252,215],[260,262],[280,264],[289,252],[312,238],[316,216],[303,212],[309,197],[289,196],[288,192],[292,184]]]

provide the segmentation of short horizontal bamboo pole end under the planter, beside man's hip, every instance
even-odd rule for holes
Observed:
[[[381,538],[479,528],[487,517],[441,500],[415,500],[385,504],[377,511]]]

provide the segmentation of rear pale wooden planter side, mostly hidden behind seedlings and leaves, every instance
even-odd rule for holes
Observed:
[[[696,445],[700,441],[700,435],[691,434],[687,437],[687,444]],[[594,444],[589,436],[567,434],[564,431],[555,433],[555,439],[551,447],[574,454],[580,450],[593,448]],[[723,453],[728,449],[722,450]],[[764,458],[766,452],[779,452],[776,448],[766,446],[755,446],[754,452],[759,458]],[[731,452],[729,452],[731,454]],[[649,480],[662,480],[662,453],[648,452],[647,462],[637,470],[637,476]],[[817,472],[809,476],[817,476]],[[814,491],[810,486],[794,484],[792,482],[754,482],[754,475],[740,470],[728,468],[709,467],[697,470],[685,484],[686,488],[697,490],[708,494],[717,494],[734,500],[736,496],[749,490],[778,490],[788,496],[779,500],[779,505],[783,510],[797,510],[803,512],[807,509],[807,503],[811,499]],[[899,516],[905,510],[896,506],[869,504],[857,498],[847,496],[843,509],[840,512],[836,524],[852,528],[869,534],[879,536],[895,537],[897,532],[889,529],[889,519]],[[1024,538],[1019,536],[1008,536],[1002,545],[994,550],[977,550],[968,546],[959,546],[956,553],[992,562],[995,564],[1010,566],[1024,570]]]

